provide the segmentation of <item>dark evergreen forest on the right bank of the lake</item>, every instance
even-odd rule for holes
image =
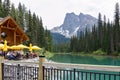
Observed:
[[[92,31],[86,28],[80,37],[73,36],[70,41],[70,51],[93,52],[103,51],[108,55],[118,55],[120,52],[120,12],[119,3],[115,5],[114,21],[106,20],[99,13],[98,26],[93,26]]]

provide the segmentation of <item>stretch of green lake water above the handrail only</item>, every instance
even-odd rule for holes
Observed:
[[[50,58],[50,60],[60,63],[120,66],[120,58],[116,57],[55,54],[53,57]]]

